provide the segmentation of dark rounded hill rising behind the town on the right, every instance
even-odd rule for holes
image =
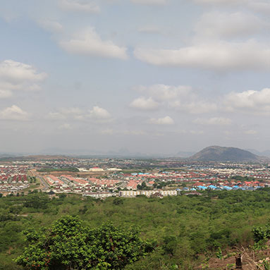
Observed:
[[[260,161],[261,157],[235,147],[210,146],[194,154],[189,159],[196,161]]]

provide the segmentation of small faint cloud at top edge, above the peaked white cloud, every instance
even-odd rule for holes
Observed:
[[[93,1],[59,0],[59,6],[67,11],[99,13],[100,9]]]

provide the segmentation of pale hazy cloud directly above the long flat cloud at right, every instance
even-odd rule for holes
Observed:
[[[243,12],[221,13],[211,11],[204,13],[195,25],[197,38],[232,38],[248,37],[266,26],[260,18]]]

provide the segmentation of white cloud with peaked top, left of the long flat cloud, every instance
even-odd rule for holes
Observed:
[[[93,27],[79,32],[68,41],[59,42],[60,46],[70,54],[82,54],[109,57],[116,59],[128,59],[127,48],[118,47],[111,40],[103,41]]]

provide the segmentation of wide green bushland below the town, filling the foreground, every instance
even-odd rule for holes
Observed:
[[[67,217],[67,215],[78,216],[78,219]],[[72,251],[73,246],[78,250],[78,258],[75,259],[83,260],[88,256],[85,249],[91,250],[92,247],[97,247],[101,239],[99,236],[104,232],[102,230],[107,228],[113,234],[122,235],[121,238],[128,239],[130,233],[135,235],[135,239],[137,239],[134,242],[135,257],[130,260],[130,254],[125,253],[128,252],[128,249],[124,248],[121,251],[124,252],[123,262],[118,262],[121,263],[120,266],[108,260],[109,255],[106,253],[109,252],[108,250],[105,250],[104,256],[102,256],[97,253],[99,249],[96,248],[91,251],[93,260],[90,268],[86,269],[195,269],[196,266],[207,265],[210,257],[222,258],[221,250],[225,252],[235,245],[252,246],[254,249],[262,247],[270,238],[269,216],[269,188],[254,192],[207,190],[202,192],[202,196],[182,195],[163,199],[141,196],[136,198],[111,197],[106,200],[85,198],[82,200],[80,195],[59,196],[59,198],[50,199],[48,195],[40,192],[19,197],[1,197],[0,269],[19,270],[24,269],[23,266],[25,269],[31,269],[27,268],[22,260],[27,258],[25,254],[30,252],[29,248],[38,247],[44,243],[42,242],[44,238],[49,239],[50,244],[45,245],[44,243],[43,246],[50,248],[51,252],[55,252],[55,246],[50,247],[50,245],[57,243],[54,242],[54,238],[61,234],[59,224],[63,221],[66,222],[66,219],[79,224],[80,232],[76,235],[80,235],[82,241],[80,246],[83,247],[82,250],[77,248],[79,240],[75,235],[74,238],[68,239],[65,238],[66,233],[61,235],[61,239],[64,240],[60,242],[63,244],[68,244],[68,241],[71,240],[75,241],[74,245],[68,244],[62,248],[62,252],[71,252],[67,264],[73,262],[72,256],[75,256],[72,253],[75,252]],[[107,225],[101,226],[102,223]],[[140,226],[140,234],[135,233],[134,226]],[[24,231],[28,231],[26,233],[28,243],[25,243]],[[85,238],[85,233],[88,238]],[[92,238],[93,233],[96,233],[97,239]],[[31,237],[29,238],[29,236]],[[108,243],[109,238],[102,236],[102,239]],[[114,242],[114,238],[112,241],[118,243],[118,240]],[[136,250],[136,243],[138,243],[136,241],[142,241],[142,247],[145,245],[145,247],[152,248],[153,246],[149,245],[149,242],[157,243],[157,247],[149,253],[143,249]],[[109,242],[111,243],[111,240]],[[125,245],[125,243],[121,243],[121,245]],[[27,247],[26,250],[25,247]],[[71,250],[66,250],[66,248]],[[38,252],[37,248],[34,250]],[[42,249],[40,252],[43,254]],[[59,256],[61,254],[59,253]],[[18,257],[17,262],[23,266],[18,266],[14,261]],[[98,266],[99,262],[104,262],[104,264]],[[76,261],[76,265],[78,265],[77,263],[81,262]],[[109,266],[109,264],[113,266]],[[75,265],[72,267],[73,269],[85,269],[76,268]],[[55,266],[49,269],[61,268]]]

